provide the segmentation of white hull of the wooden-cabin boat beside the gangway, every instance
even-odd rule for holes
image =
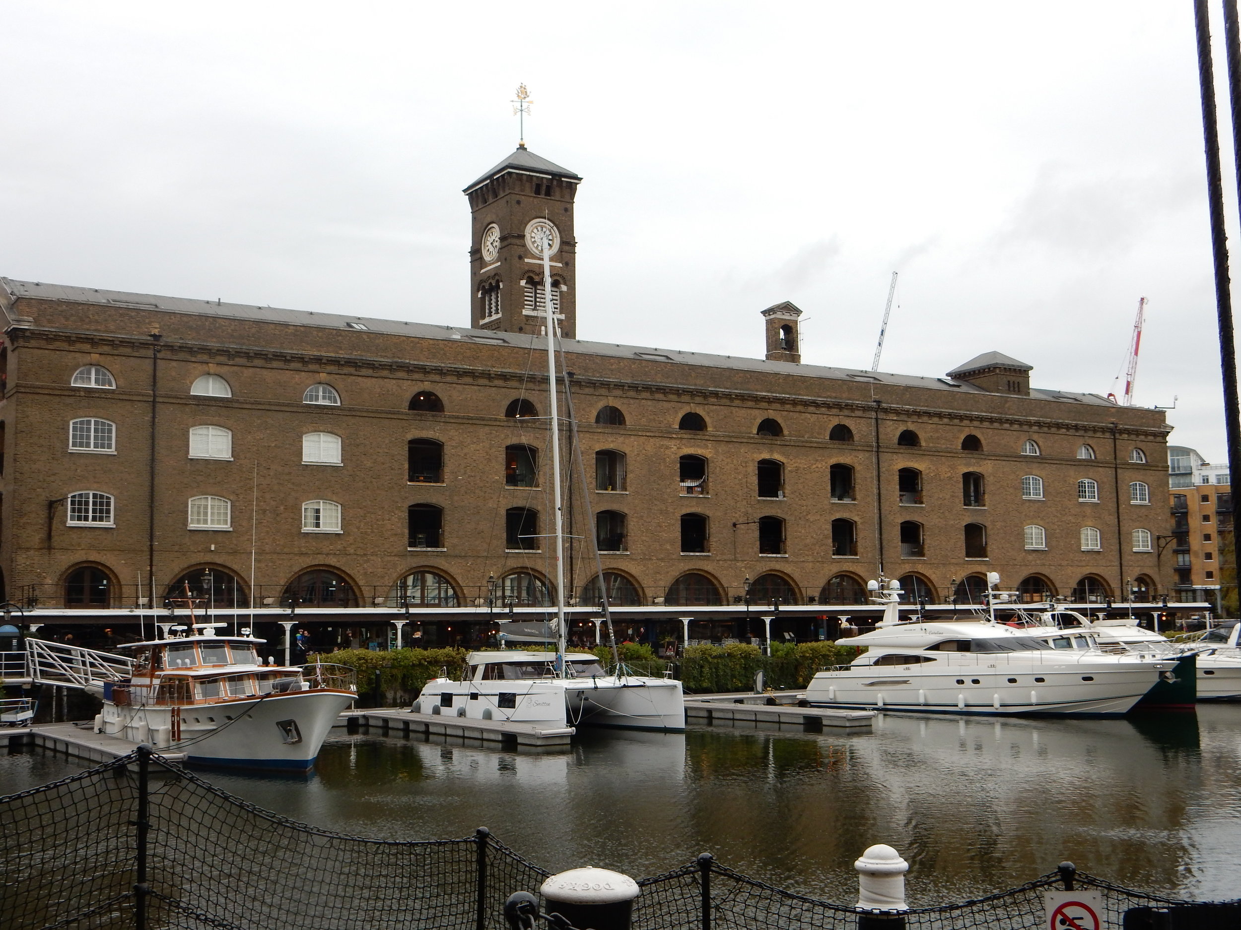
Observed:
[[[194,765],[305,771],[354,697],[314,689],[187,707],[105,702],[101,724],[103,733],[185,753]]]

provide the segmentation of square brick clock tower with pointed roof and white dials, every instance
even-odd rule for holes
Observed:
[[[582,179],[519,145],[464,193],[470,208],[470,326],[540,334],[546,324],[542,243],[551,241],[551,306],[577,336],[573,198]]]

